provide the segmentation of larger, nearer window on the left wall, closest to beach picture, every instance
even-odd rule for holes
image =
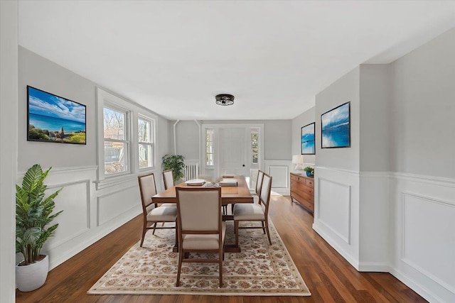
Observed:
[[[103,108],[105,138],[105,175],[129,171],[128,113],[110,107]]]

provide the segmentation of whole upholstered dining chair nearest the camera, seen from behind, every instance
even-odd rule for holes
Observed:
[[[220,287],[223,285],[223,260],[226,224],[221,215],[220,187],[176,187],[178,226],[178,270],[180,284],[183,262],[218,263]],[[188,253],[218,253],[218,259],[188,258]]]

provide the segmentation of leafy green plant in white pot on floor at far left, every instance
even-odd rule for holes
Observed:
[[[53,236],[58,224],[49,225],[56,216],[53,199],[61,188],[48,197],[44,184],[50,168],[43,172],[41,165],[30,167],[23,177],[22,186],[16,184],[16,253],[24,260],[16,265],[16,286],[22,292],[41,287],[48,277],[49,258],[41,255],[41,248]]]

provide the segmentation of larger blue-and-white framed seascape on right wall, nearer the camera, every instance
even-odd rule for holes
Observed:
[[[350,102],[321,115],[321,148],[350,147]]]

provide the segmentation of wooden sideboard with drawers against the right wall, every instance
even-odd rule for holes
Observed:
[[[291,201],[299,202],[314,214],[314,179],[291,172]]]

